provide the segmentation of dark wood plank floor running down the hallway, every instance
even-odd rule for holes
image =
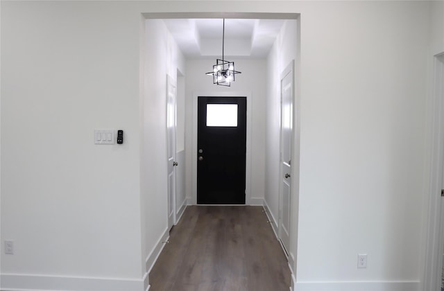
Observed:
[[[149,274],[150,291],[288,291],[287,258],[260,206],[188,206]]]

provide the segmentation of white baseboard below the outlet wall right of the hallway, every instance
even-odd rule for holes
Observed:
[[[296,282],[293,291],[418,291],[419,281]]]

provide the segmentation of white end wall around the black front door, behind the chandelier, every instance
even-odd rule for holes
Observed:
[[[212,71],[212,66],[216,60],[187,60],[187,136],[185,148],[187,150],[186,173],[187,173],[187,197],[191,198],[191,154],[194,151],[191,145],[192,136],[192,104],[193,92],[251,92],[251,197],[262,200],[264,198],[264,175],[265,175],[265,91],[266,71],[265,60],[232,60],[236,66],[236,71],[241,74],[236,76],[236,81],[231,87],[217,86],[213,84],[212,77],[205,73]],[[248,188],[248,185],[247,185]]]

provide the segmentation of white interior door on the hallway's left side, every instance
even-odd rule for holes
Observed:
[[[176,82],[167,76],[168,228],[176,223]]]

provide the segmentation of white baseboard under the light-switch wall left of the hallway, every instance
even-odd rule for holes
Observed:
[[[142,279],[114,279],[37,274],[1,274],[2,291],[144,290]]]

